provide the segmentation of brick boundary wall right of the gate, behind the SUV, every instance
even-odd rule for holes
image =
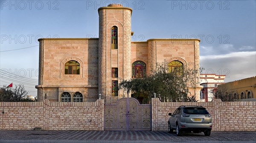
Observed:
[[[256,102],[161,102],[151,99],[152,131],[168,130],[168,113],[182,105],[203,106],[212,115],[212,131],[256,131]]]

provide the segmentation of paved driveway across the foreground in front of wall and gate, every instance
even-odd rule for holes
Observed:
[[[72,140],[72,141],[71,141]],[[0,143],[256,143],[256,132],[212,132],[209,137],[166,131],[33,131],[0,130]]]

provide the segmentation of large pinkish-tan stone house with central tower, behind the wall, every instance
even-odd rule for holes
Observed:
[[[101,94],[111,104],[130,96],[115,94],[121,79],[144,78],[157,62],[166,60],[170,68],[199,67],[199,39],[131,42],[131,8],[111,4],[98,12],[99,38],[38,39],[38,101],[96,101]],[[189,87],[197,100],[200,90],[199,84]]]

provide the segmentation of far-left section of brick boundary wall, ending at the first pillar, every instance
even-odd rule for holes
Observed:
[[[0,102],[0,129],[34,129],[43,124],[43,102]]]

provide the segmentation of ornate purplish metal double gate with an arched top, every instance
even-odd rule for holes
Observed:
[[[105,104],[105,130],[151,130],[151,105],[135,98],[121,98],[116,104]]]

